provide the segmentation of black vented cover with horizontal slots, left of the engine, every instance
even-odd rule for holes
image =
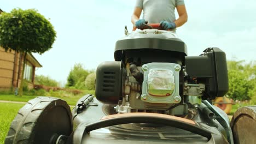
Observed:
[[[104,104],[118,104],[122,88],[121,62],[103,62],[96,70],[95,95]]]

